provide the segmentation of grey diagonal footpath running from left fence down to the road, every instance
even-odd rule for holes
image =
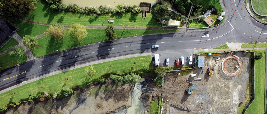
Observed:
[[[17,46],[18,46],[18,47],[21,46],[22,49],[25,51],[25,53],[26,53],[26,55],[27,55],[27,61],[30,61],[30,60],[33,60],[33,59],[36,58],[36,57],[34,57],[33,54],[31,53],[30,49],[27,48],[26,46],[24,46],[24,45],[22,44],[22,38],[21,38],[17,33],[15,33],[15,34],[13,35],[13,38],[16,39],[16,41],[19,43]]]

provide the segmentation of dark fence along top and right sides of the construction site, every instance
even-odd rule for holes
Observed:
[[[229,52],[232,52],[232,51],[229,51]],[[238,52],[250,52],[250,51],[238,51]],[[215,52],[215,53],[228,53],[228,52]],[[254,67],[254,54],[255,54],[255,52],[251,52],[252,54],[251,55],[253,55],[253,56],[251,56],[251,92],[252,92],[252,95],[251,95],[251,97],[252,97],[252,99],[250,100],[250,102],[246,105],[246,107],[243,109],[243,111],[242,111],[242,113],[241,114],[244,114],[245,112],[246,112],[246,110],[247,110],[247,108],[250,106],[250,104],[252,104],[252,102],[254,101],[254,99],[255,99],[255,89],[254,89],[254,84],[255,84],[255,80],[254,80],[254,75],[255,75],[255,72],[254,72],[254,70],[255,70],[255,67]],[[206,54],[206,53],[201,53],[201,54]],[[201,54],[199,54],[199,55],[201,55]],[[266,54],[266,53],[265,53]]]

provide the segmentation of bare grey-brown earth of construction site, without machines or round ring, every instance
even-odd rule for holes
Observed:
[[[174,108],[174,113],[176,114],[236,114],[238,104],[245,102],[244,96],[249,82],[250,61],[247,52],[245,54],[242,52],[233,53],[233,55],[240,57],[242,64],[242,69],[237,75],[223,73],[221,69],[222,58],[231,55],[221,54],[203,55],[207,56],[205,57],[207,67],[205,67],[204,72],[202,72],[201,68],[193,70],[193,73],[197,73],[196,77],[190,77],[189,75],[192,73],[186,74],[186,72],[167,73],[164,76],[164,84],[161,88],[151,82],[151,79],[146,79],[146,82],[143,82],[144,92],[142,95],[145,102],[145,110],[150,113],[149,104],[151,98],[148,100],[148,95],[154,98],[162,94],[164,114],[169,114],[170,107]],[[221,59],[215,65],[215,59],[218,57],[221,57]],[[213,76],[207,74],[208,67],[214,67]],[[236,66],[233,67],[235,68]],[[178,75],[178,73],[181,74]],[[201,78],[202,80],[194,81],[194,78]],[[186,82],[186,79],[195,84],[192,95],[186,92],[189,85],[191,86],[189,82]]]

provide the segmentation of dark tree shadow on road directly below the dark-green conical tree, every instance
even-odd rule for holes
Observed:
[[[97,58],[105,59],[110,55],[110,51],[113,47],[113,41],[104,41],[100,42],[98,49],[97,49]]]

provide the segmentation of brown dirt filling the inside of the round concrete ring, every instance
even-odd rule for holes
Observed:
[[[234,58],[229,58],[224,63],[224,68],[227,73],[235,73],[238,67],[238,61]]]

